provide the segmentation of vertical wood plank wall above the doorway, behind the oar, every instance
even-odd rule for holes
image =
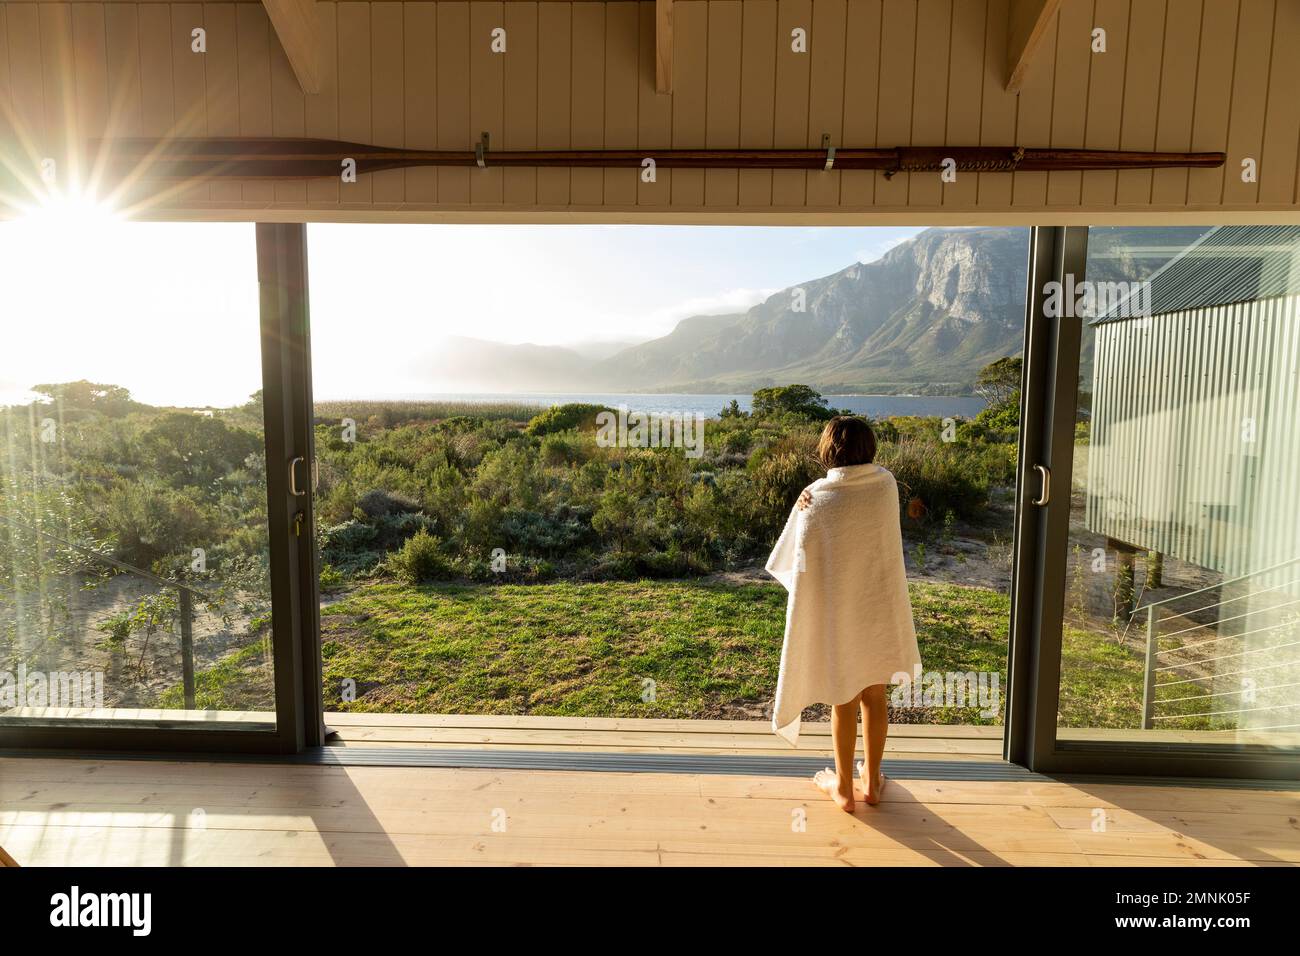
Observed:
[[[292,16],[296,5],[272,9]],[[1034,21],[1040,35],[1023,55],[1009,29],[1018,7],[675,0],[672,92],[660,94],[654,0],[321,0],[315,77],[309,40],[286,34],[295,73],[261,3],[10,0],[0,4],[4,191],[39,189],[46,157],[62,181],[91,178],[77,147],[104,134],[463,150],[488,131],[500,150],[647,155],[815,147],[828,134],[845,146],[1226,150],[1228,160],[1199,170],[970,173],[953,183],[937,173],[660,170],[642,182],[634,169],[443,168],[356,183],[138,185],[129,200],[156,217],[308,220],[671,212],[680,221],[927,222],[1086,211],[1105,221],[1187,208],[1206,220],[1234,211],[1295,219],[1300,1],[1060,0]],[[1030,7],[1022,17],[1043,13],[1044,4]],[[196,29],[205,52],[192,49]],[[1006,88],[1010,69],[1018,94]],[[1254,181],[1243,181],[1245,159]]]

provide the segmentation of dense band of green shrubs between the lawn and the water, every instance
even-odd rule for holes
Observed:
[[[110,418],[91,398],[64,427],[61,454],[39,460],[32,416],[39,421],[48,406],[3,410],[0,440],[17,458],[0,475],[0,509],[48,512],[70,540],[142,567],[176,567],[202,546],[216,568],[213,584],[265,587],[266,470],[260,454],[244,455],[260,406],[207,418],[117,402]],[[708,420],[703,457],[686,458],[673,447],[598,446],[592,428],[599,405],[526,414],[463,403],[344,407],[351,405],[317,407],[316,535],[326,588],[376,574],[637,579],[762,561],[800,490],[823,473],[814,453],[832,412],[812,389],[760,392],[759,414],[728,407]],[[989,489],[1014,481],[1008,415],[1010,406],[991,406],[958,425],[956,442],[942,441],[939,418],[872,421],[881,464],[898,476],[904,503],[919,505],[909,524],[939,523],[949,512],[954,520],[979,516]],[[343,418],[356,420],[355,442],[342,440]],[[1084,423],[1080,441],[1086,434]],[[191,445],[202,454],[187,457]],[[29,486],[35,475],[49,485],[44,497]],[[18,533],[27,532],[10,532],[12,541]],[[493,568],[494,549],[508,554],[506,571]],[[48,572],[38,557],[57,555],[35,538],[0,551],[0,579]],[[99,570],[81,553],[57,559]]]

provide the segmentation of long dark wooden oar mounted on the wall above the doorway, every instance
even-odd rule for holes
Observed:
[[[898,172],[1162,169],[1221,166],[1222,152],[901,146],[888,150],[402,150],[337,139],[99,139],[104,168],[140,179],[316,179],[415,166],[607,166],[664,169],[879,169]],[[950,160],[950,163],[949,163]]]

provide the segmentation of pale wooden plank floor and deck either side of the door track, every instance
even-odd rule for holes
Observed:
[[[329,723],[343,748],[828,747],[824,724],[790,750],[754,722]],[[998,749],[996,730],[900,726],[888,757],[975,769]],[[0,847],[22,865],[1294,865],[1297,817],[1296,791],[1045,778],[893,779],[848,816],[792,777],[0,758]]]

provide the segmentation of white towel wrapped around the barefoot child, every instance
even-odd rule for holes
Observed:
[[[897,683],[920,663],[898,524],[898,486],[879,464],[831,468],[809,485],[767,559],[790,592],[772,730],[794,744],[800,713]]]

